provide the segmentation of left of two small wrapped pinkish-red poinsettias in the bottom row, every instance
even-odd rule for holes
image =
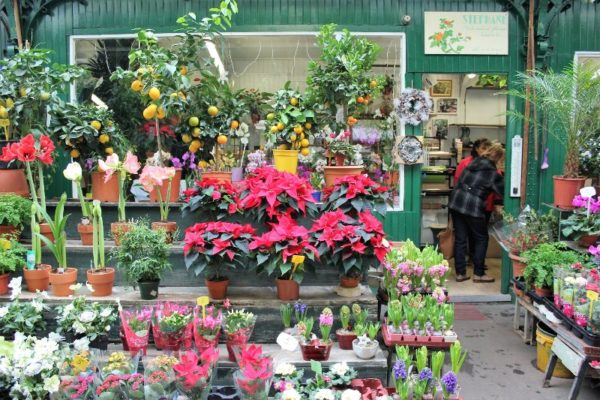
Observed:
[[[173,366],[177,389],[190,399],[205,399],[210,392],[212,374],[219,359],[219,350],[209,347],[200,355],[182,352]]]

